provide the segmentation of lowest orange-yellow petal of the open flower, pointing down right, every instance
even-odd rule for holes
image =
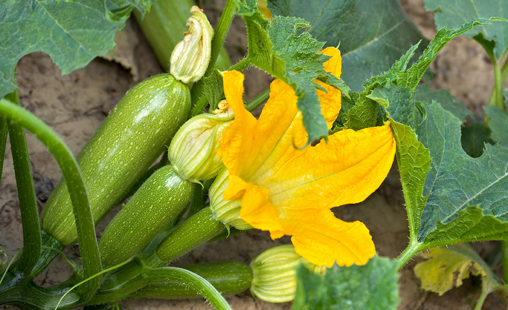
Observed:
[[[285,210],[281,217],[284,232],[293,236],[296,253],[312,264],[363,265],[374,256],[374,243],[363,223],[341,221],[330,210]]]

